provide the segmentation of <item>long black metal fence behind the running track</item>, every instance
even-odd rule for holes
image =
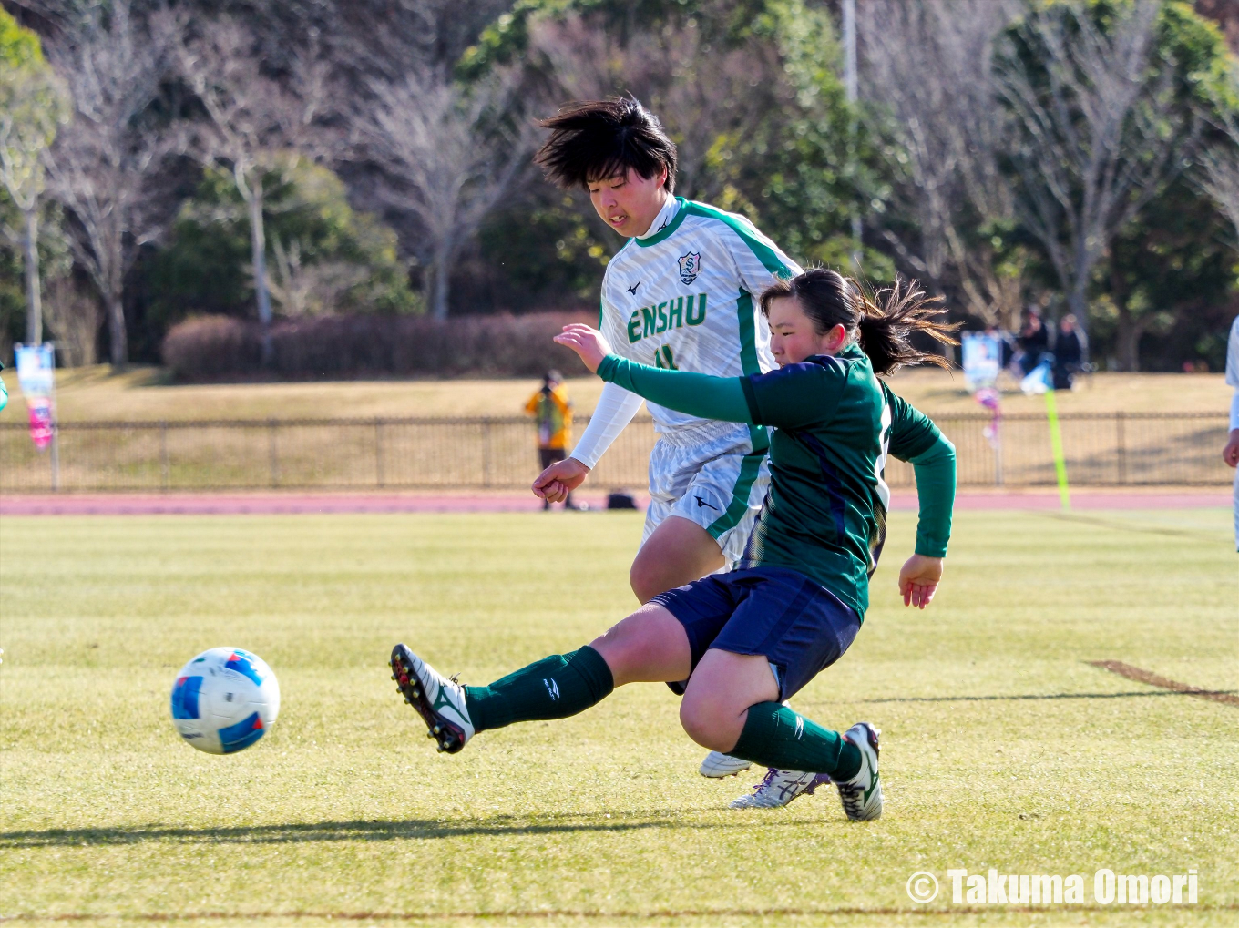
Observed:
[[[577,430],[587,420],[577,420]],[[955,442],[960,486],[1052,484],[1044,416],[934,416]],[[1061,418],[1067,472],[1077,486],[1222,486],[1224,414],[1078,413]],[[580,432],[577,432],[580,434]],[[624,430],[595,470],[598,488],[646,486],[654,444],[648,420]],[[528,419],[299,419],[62,422],[37,451],[25,425],[0,424],[0,492],[209,491],[261,488],[494,488],[536,475]],[[887,483],[913,484],[891,461]]]

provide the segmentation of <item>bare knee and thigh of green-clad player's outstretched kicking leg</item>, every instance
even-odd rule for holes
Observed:
[[[590,642],[611,668],[616,686],[683,680],[693,669],[684,626],[664,607],[647,603]]]

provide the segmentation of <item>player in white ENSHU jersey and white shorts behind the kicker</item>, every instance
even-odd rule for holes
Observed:
[[[571,104],[543,125],[551,135],[535,160],[548,178],[586,188],[602,221],[628,237],[602,281],[598,328],[616,353],[715,377],[774,368],[757,296],[800,268],[745,217],[673,195],[675,144],[658,118],[633,99],[611,99]],[[576,447],[543,471],[534,493],[559,502],[579,487],[641,404],[634,393],[606,384]],[[658,432],[650,503],[629,572],[643,603],[738,560],[769,482],[764,427],[655,404],[649,413]],[[748,766],[711,752],[701,773],[722,777]],[[771,771],[736,804],[786,805],[818,781]]]

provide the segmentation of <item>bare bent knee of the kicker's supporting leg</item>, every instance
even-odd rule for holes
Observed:
[[[680,724],[703,747],[727,752],[740,740],[750,706],[777,701],[778,684],[763,654],[710,648],[684,690]]]

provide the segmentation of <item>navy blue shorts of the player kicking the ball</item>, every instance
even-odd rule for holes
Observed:
[[[778,678],[779,701],[799,693],[851,646],[856,612],[795,570],[750,567],[711,574],[650,602],[684,626],[693,668],[710,648],[761,654]],[[675,693],[684,685],[668,684]]]

